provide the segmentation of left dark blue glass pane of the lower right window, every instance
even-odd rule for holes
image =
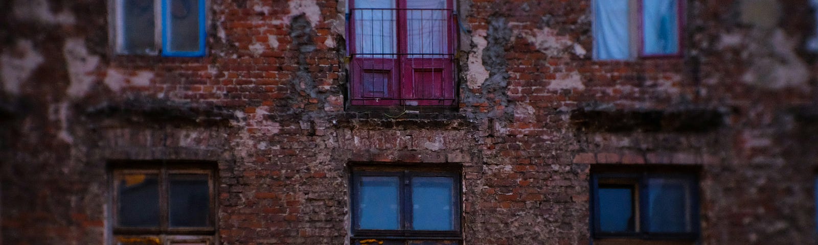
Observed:
[[[627,187],[600,187],[600,231],[634,231],[633,189]]]

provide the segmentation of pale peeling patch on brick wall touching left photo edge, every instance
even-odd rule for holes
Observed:
[[[30,40],[17,40],[14,48],[7,48],[0,55],[0,82],[5,91],[11,94],[20,93],[20,84],[31,77],[41,64],[43,56],[34,50]]]

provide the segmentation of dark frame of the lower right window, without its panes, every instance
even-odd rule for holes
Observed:
[[[600,229],[600,179],[632,180],[636,186],[634,199],[631,205],[634,212],[634,230],[632,232],[604,232]],[[690,186],[690,200],[686,208],[690,208],[690,232],[649,232],[649,179],[681,179]],[[591,173],[591,234],[593,238],[639,238],[639,239],[667,239],[667,240],[695,240],[701,233],[699,209],[699,176],[692,172],[594,172]]]

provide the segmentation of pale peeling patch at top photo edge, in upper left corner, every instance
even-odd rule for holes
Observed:
[[[14,16],[18,20],[34,21],[47,25],[74,25],[74,14],[67,8],[59,13],[51,11],[47,0],[15,1]]]

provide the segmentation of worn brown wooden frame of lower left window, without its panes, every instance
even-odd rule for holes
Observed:
[[[117,244],[118,238],[146,238],[155,237],[167,238],[168,243],[182,240],[207,241],[214,243],[216,231],[218,230],[218,169],[215,163],[166,163],[164,161],[114,161],[109,163],[108,186],[110,186],[110,232],[113,242]],[[159,225],[157,227],[128,227],[119,225],[119,176],[127,174],[156,174],[159,194]],[[174,174],[204,174],[208,176],[209,213],[207,216],[208,225],[200,227],[170,227],[170,180],[169,176]]]

